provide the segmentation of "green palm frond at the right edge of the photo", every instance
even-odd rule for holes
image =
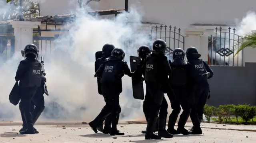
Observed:
[[[233,45],[234,51],[237,49],[236,56],[245,47],[256,48],[256,33],[247,33],[242,36],[242,39],[236,39]]]

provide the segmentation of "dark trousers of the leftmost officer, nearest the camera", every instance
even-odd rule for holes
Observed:
[[[24,121],[27,128],[33,127],[32,114],[30,112],[31,100],[36,94],[37,88],[20,87],[20,111],[22,115],[22,121]]]

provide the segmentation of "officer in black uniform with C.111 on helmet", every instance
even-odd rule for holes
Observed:
[[[172,90],[176,95],[176,100],[171,102],[172,113],[170,114],[168,121],[167,131],[172,134],[188,135],[189,132],[184,128],[191,112],[191,104],[193,100],[193,86],[195,84],[194,69],[190,63],[184,61],[185,53],[183,49],[174,49],[173,51],[173,62],[170,63],[172,68],[172,76],[170,76],[170,84]],[[170,61],[169,61],[170,62]],[[174,125],[177,121],[178,115],[180,113],[180,106],[183,109],[182,114],[178,122],[177,131],[174,129]],[[199,119],[197,114],[191,115],[191,120],[194,124],[199,124]]]

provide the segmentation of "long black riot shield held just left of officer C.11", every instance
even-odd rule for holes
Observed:
[[[135,71],[139,63],[140,63],[139,57],[130,56],[131,71]],[[134,99],[144,100],[143,81],[135,80],[135,78],[132,77],[132,92],[133,92]]]

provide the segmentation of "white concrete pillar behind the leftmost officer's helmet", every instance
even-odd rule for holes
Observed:
[[[15,51],[20,51],[27,44],[33,43],[33,28],[37,28],[41,22],[13,21],[10,24],[14,28]]]

